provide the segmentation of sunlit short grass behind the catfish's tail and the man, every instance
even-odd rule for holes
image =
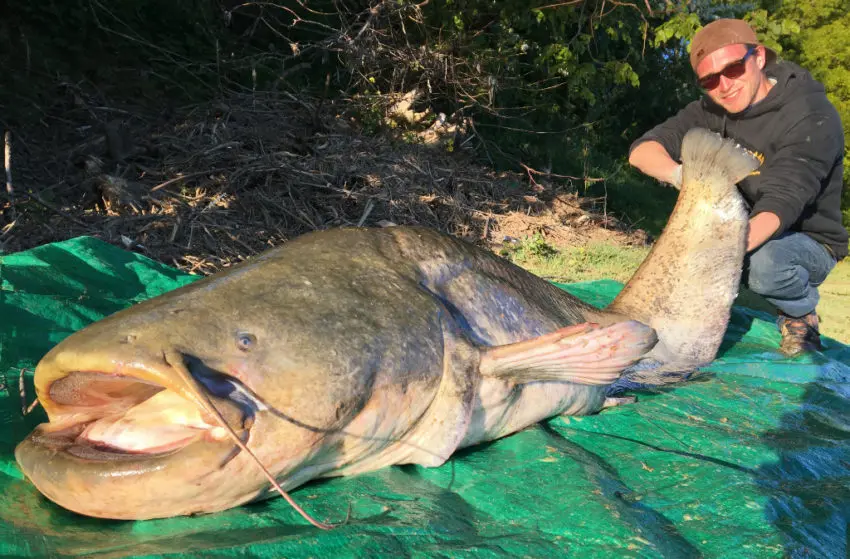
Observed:
[[[524,239],[502,255],[532,273],[556,282],[572,283],[597,279],[626,282],[649,254],[648,248],[590,244],[557,250],[541,237]],[[850,261],[840,262],[820,288],[821,333],[850,344]],[[737,305],[771,311],[767,303],[744,290]]]

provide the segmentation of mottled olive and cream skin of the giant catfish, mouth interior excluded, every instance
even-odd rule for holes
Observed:
[[[18,462],[47,497],[81,514],[214,512],[269,496],[257,462],[284,490],[394,464],[438,466],[553,415],[598,412],[611,389],[610,372],[598,382],[606,363],[640,381],[690,372],[714,357],[728,321],[746,229],[734,183],[754,167],[707,131],[688,134],[683,157],[668,227],[606,309],[432,229],[310,233],[54,347],[35,375],[51,423],[21,442]],[[546,341],[587,323],[586,333],[569,330],[575,338]],[[539,347],[524,344],[536,339]],[[581,353],[588,344],[599,350]],[[521,351],[522,369],[482,374],[484,360]],[[72,386],[79,371],[210,401],[253,456],[201,433],[173,454],[95,460],[104,451],[55,429],[73,425],[74,394],[103,396],[89,377]],[[212,426],[208,415],[194,425]],[[100,442],[125,444],[108,427]]]

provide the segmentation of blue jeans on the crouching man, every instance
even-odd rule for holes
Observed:
[[[781,312],[798,318],[814,312],[818,286],[835,267],[826,248],[803,233],[785,233],[744,258],[741,283]]]

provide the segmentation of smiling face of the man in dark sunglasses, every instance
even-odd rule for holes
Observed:
[[[734,76],[737,74],[735,63],[747,54],[747,45],[728,45],[717,49],[706,56],[697,66],[697,78],[703,80],[711,74],[718,74],[719,80],[716,87],[704,87],[711,99],[726,109],[727,112],[735,114],[743,111],[752,103],[760,101],[767,94],[763,87],[763,74],[761,69],[765,64],[765,52],[763,47],[758,47],[744,61],[744,72],[737,77],[727,77],[722,72]]]

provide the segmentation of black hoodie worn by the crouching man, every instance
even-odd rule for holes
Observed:
[[[847,256],[848,240],[841,224],[841,119],[823,85],[800,66],[779,62],[768,66],[766,73],[776,84],[755,105],[729,114],[704,96],[638,138],[629,152],[655,140],[679,161],[682,138],[694,127],[734,138],[763,157],[759,170],[738,184],[750,215],[775,213],[780,225],[774,237],[785,231],[803,232],[840,260]]]

